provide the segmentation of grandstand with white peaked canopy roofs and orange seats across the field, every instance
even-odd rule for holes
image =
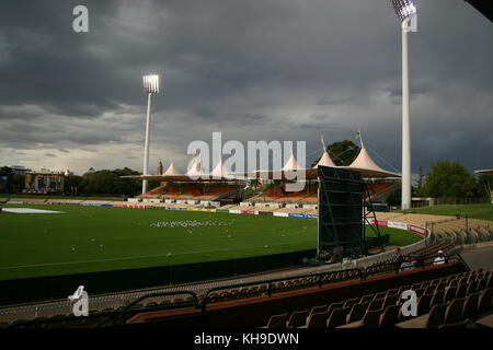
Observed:
[[[303,171],[305,186],[300,191],[286,190],[286,180],[283,184],[271,187],[263,192],[248,199],[248,202],[255,206],[256,203],[297,203],[311,205],[318,203],[318,167],[332,166],[343,170],[351,170],[362,173],[368,180],[370,200],[383,201],[390,192],[400,186],[399,174],[385,171],[378,166],[368,154],[363,139],[360,138],[360,151],[357,158],[348,166],[335,166],[331,160],[325,145],[323,143],[323,154],[318,163],[309,170],[300,167],[296,156],[293,153],[280,171],[256,171],[253,173],[230,174],[225,168],[222,160],[214,167],[214,170],[205,174],[202,168],[200,161],[194,155],[192,164],[185,175],[182,175],[173,163],[170,164],[164,174],[147,175],[147,176],[123,176],[131,179],[159,180],[161,186],[148,191],[138,198],[160,198],[160,199],[197,199],[197,200],[219,200],[219,199],[240,199],[241,189],[246,185],[245,178],[284,178],[289,172]],[[314,210],[314,207],[305,207],[308,210]]]

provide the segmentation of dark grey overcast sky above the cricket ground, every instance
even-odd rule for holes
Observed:
[[[89,9],[89,33],[72,10]],[[415,1],[410,33],[412,170],[493,167],[492,23],[462,0]],[[184,171],[193,140],[365,144],[401,168],[401,34],[388,0],[2,1],[0,166],[83,174]]]

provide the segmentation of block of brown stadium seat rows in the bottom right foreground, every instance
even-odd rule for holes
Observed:
[[[311,310],[272,315],[263,328],[385,328],[408,317],[401,313],[405,290],[417,294],[417,326],[425,328],[465,326],[467,319],[493,307],[493,271],[471,271],[401,285],[375,294],[313,305]],[[410,316],[412,317],[412,316]]]

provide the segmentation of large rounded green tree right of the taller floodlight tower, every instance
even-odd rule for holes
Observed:
[[[471,198],[478,195],[475,178],[459,162],[432,163],[420,191],[425,197]]]

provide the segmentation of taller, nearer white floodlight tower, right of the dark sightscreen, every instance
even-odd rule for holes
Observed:
[[[409,117],[408,32],[416,31],[416,7],[411,0],[390,0],[402,32],[402,197],[401,209],[411,208],[411,132]],[[411,25],[410,25],[411,23]]]

